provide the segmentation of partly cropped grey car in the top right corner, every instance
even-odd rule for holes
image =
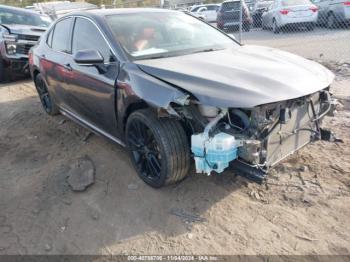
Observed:
[[[313,0],[319,8],[318,23],[328,28],[350,24],[350,0]]]

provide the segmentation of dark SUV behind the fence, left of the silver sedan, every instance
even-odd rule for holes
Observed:
[[[244,31],[249,31],[253,20],[250,16],[247,5],[243,0],[242,3],[242,27]],[[217,27],[221,30],[238,29],[240,24],[240,6],[240,0],[229,0],[223,2],[217,14]]]

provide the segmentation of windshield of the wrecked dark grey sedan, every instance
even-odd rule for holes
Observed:
[[[227,35],[182,12],[107,16],[116,40],[133,59],[179,56],[238,46]]]

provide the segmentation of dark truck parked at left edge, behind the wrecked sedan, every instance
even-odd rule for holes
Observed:
[[[28,51],[50,25],[48,16],[0,5],[0,82],[28,74]]]

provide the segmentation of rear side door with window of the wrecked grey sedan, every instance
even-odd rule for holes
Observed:
[[[45,76],[48,88],[55,97],[55,103],[61,106],[64,103],[66,89],[64,64],[70,56],[69,36],[72,27],[72,18],[58,21],[50,30],[46,39],[44,52],[40,54],[41,72]]]

